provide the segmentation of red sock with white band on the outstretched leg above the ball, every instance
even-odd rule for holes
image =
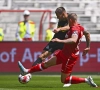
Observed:
[[[44,67],[44,63],[37,64],[37,65],[31,67],[31,68],[28,70],[28,73],[33,73],[33,72],[42,71],[43,69],[46,69],[46,68]]]

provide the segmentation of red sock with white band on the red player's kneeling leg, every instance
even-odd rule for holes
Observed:
[[[79,78],[79,77],[75,77],[75,76],[69,76],[66,78],[64,83],[71,83],[71,84],[78,84],[78,83],[84,83],[85,82],[85,78]]]

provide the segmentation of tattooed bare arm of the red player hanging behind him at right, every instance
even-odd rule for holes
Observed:
[[[85,35],[86,39],[86,48],[83,50],[82,56],[85,56],[90,50],[90,33],[84,30],[83,34]]]

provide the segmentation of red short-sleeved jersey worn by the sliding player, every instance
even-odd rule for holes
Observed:
[[[69,56],[72,53],[75,54],[75,55],[79,54],[79,44],[80,44],[81,38],[83,36],[83,31],[84,31],[84,28],[80,24],[77,24],[77,25],[70,27],[70,30],[65,35],[65,38],[66,39],[71,38],[71,36],[73,34],[77,34],[78,39],[77,39],[76,43],[64,44],[64,47],[62,49],[62,52],[63,52],[64,55]]]

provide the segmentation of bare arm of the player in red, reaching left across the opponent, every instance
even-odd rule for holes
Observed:
[[[71,38],[64,39],[64,40],[60,40],[58,38],[55,38],[52,41],[53,42],[59,42],[59,43],[69,43],[69,44],[72,44],[72,43],[76,43],[77,39],[78,39],[78,35],[77,34],[72,34]]]

